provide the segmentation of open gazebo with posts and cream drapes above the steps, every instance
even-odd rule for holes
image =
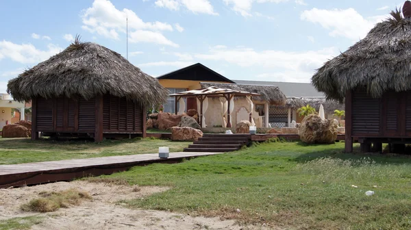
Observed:
[[[184,98],[194,97],[197,99],[197,112],[199,112],[199,125],[201,127],[206,127],[206,118],[204,113],[208,109],[208,98],[220,99],[221,101],[221,116],[227,114],[227,125],[226,127],[232,127],[232,112],[234,110],[234,97],[245,97],[249,101],[250,111],[253,111],[253,101],[251,97],[260,96],[260,94],[253,92],[245,92],[239,90],[231,90],[227,88],[218,88],[216,86],[202,88],[199,90],[189,90],[186,92],[179,92],[176,94],[171,94],[171,97],[175,97],[175,113],[184,112],[186,106]],[[179,103],[179,112],[177,112],[177,103]],[[252,113],[249,115],[249,121],[253,123]]]

